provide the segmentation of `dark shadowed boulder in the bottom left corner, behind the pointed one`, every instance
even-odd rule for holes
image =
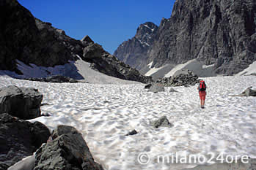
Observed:
[[[0,167],[10,167],[32,155],[51,135],[43,123],[0,114]]]

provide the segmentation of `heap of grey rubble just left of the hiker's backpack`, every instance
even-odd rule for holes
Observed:
[[[164,86],[189,86],[196,85],[199,80],[197,75],[189,70],[181,70],[176,72],[172,77],[164,77],[157,80],[156,82],[161,83]]]

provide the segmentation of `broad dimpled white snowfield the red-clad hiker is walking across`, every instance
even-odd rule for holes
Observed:
[[[249,155],[256,158],[256,98],[234,97],[256,85],[256,77],[208,77],[205,109],[197,86],[179,93],[150,93],[143,84],[103,85],[47,83],[0,77],[0,87],[17,85],[43,93],[42,113],[34,121],[48,128],[73,125],[81,131],[95,161],[104,169],[183,169],[184,164],[157,163],[157,155],[175,152],[208,155]],[[245,86],[246,85],[246,86]],[[153,128],[150,121],[167,116],[172,128]],[[125,136],[136,129],[138,134]],[[139,164],[137,156],[151,158]]]

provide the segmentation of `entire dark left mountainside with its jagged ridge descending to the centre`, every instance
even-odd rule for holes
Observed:
[[[136,69],[118,61],[89,36],[72,39],[33,15],[16,0],[0,2],[0,70],[15,71],[16,60],[29,65],[56,66],[76,61],[77,55],[92,63],[92,69],[124,80],[149,82]]]

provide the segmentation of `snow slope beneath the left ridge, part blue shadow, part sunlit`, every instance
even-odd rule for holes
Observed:
[[[136,84],[139,82],[121,80],[116,77],[111,77],[106,74],[97,72],[89,67],[90,63],[83,61],[78,55],[77,61],[69,61],[65,65],[54,66],[54,67],[44,67],[36,66],[34,64],[26,65],[21,61],[17,61],[18,69],[23,73],[23,75],[15,74],[15,72],[2,71],[0,70],[0,75],[9,75],[15,78],[30,78],[30,77],[48,77],[51,75],[59,74],[66,77],[71,77],[76,80],[81,80],[81,82],[98,83],[98,84]],[[51,73],[51,74],[49,74]]]

